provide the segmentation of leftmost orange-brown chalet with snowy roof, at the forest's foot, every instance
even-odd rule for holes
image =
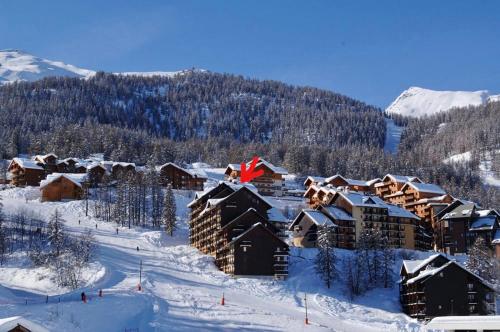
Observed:
[[[10,183],[16,187],[38,186],[46,175],[41,162],[26,158],[12,159],[7,170],[10,173]]]

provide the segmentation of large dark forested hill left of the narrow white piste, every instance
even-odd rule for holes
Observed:
[[[199,71],[172,78],[100,73],[88,80],[8,84],[0,87],[0,110],[6,157],[43,152],[43,146],[60,154],[104,151],[145,163],[156,145],[175,150],[163,138],[334,148],[380,147],[385,135],[381,113],[351,98]]]

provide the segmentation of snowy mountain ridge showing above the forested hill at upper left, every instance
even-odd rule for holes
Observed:
[[[173,77],[191,71],[205,71],[189,69],[180,71],[152,71],[152,72],[122,72],[115,73],[124,76],[164,76]],[[89,78],[95,75],[94,70],[83,69],[61,61],[43,59],[20,50],[0,50],[0,84],[17,81],[37,81],[49,76],[65,76]]]

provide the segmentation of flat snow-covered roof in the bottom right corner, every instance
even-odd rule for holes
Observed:
[[[425,326],[427,330],[486,331],[498,330],[500,316],[444,316],[433,318]]]

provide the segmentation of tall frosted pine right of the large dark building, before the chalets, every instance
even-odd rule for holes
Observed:
[[[318,255],[316,256],[316,271],[325,282],[326,287],[330,288],[332,281],[337,276],[333,231],[330,227],[318,227],[317,246]]]

